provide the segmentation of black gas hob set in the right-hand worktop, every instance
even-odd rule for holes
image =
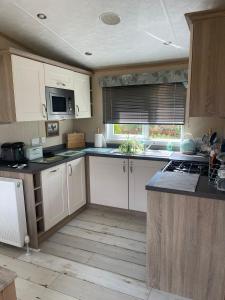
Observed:
[[[165,168],[164,171],[200,174],[208,176],[209,165],[207,162],[193,162],[193,161],[176,161],[172,160]]]

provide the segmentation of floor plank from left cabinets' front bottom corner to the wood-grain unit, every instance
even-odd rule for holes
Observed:
[[[107,270],[141,281],[146,280],[146,268],[144,266],[80,249],[74,249],[72,247],[60,245],[50,241],[44,242],[41,246],[41,250],[44,253],[52,254],[76,262],[82,262],[98,269]]]

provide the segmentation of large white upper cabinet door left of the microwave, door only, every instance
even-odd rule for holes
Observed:
[[[47,119],[43,64],[16,55],[11,60],[16,120]]]

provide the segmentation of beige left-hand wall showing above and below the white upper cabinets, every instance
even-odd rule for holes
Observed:
[[[25,49],[22,45],[0,34],[0,50],[8,47]],[[27,49],[26,49],[27,50]],[[74,121],[60,121],[60,133],[57,137],[46,139],[44,147],[54,146],[65,143],[65,133],[73,132]],[[45,137],[45,122],[19,122],[13,124],[0,124],[0,144],[4,142],[23,141],[26,144],[31,143],[35,137]]]

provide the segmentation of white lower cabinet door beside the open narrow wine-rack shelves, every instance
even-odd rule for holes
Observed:
[[[45,231],[68,216],[66,164],[41,173]]]

